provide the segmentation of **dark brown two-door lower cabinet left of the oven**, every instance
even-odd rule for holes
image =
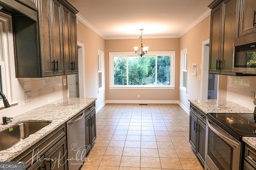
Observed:
[[[190,105],[189,143],[192,150],[204,166],[206,114],[193,105]]]

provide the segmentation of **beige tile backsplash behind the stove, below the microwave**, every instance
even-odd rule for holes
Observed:
[[[256,76],[228,76],[227,100],[254,110],[250,92],[256,94]]]

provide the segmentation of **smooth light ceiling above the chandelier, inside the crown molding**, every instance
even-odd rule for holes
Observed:
[[[181,37],[210,14],[213,0],[68,0],[104,39]]]

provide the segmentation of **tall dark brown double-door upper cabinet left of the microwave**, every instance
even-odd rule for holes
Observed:
[[[238,37],[240,0],[215,0],[211,12],[209,73],[236,75],[233,44]]]

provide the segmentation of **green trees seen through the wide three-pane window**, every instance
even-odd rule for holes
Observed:
[[[157,57],[157,84],[170,85],[170,56]],[[114,85],[127,85],[126,57],[114,57]],[[128,85],[155,85],[156,57],[128,57]]]

